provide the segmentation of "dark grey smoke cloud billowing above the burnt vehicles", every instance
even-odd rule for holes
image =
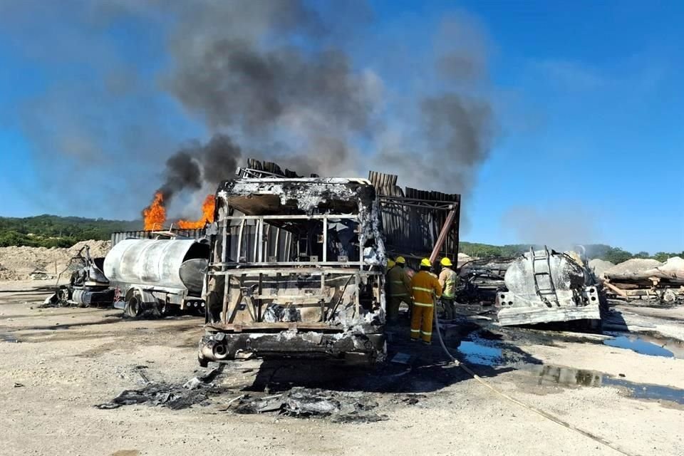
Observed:
[[[299,0],[72,0],[62,8],[71,15],[50,2],[26,4],[0,4],[10,18],[0,26],[14,21],[11,33],[21,37],[26,11],[68,17],[23,46],[46,65],[87,62],[88,83],[46,87],[24,105],[23,130],[36,155],[74,182],[103,167],[141,182],[103,183],[118,206],[147,204],[140,187],[167,201],[205,192],[249,156],[303,175],[375,169],[400,175],[402,185],[467,193],[495,138],[489,45],[465,14],[443,19],[427,51],[388,72],[376,63],[394,50],[375,44],[363,2],[324,11]],[[124,20],[158,41],[128,56],[117,39]],[[53,53],[40,46],[60,33]],[[145,61],[158,51],[151,72]],[[66,202],[80,198],[59,191]]]

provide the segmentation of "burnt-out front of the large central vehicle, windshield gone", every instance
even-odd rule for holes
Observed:
[[[199,363],[385,357],[385,247],[368,180],[238,177],[219,185]]]

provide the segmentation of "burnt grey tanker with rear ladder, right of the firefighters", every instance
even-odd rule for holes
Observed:
[[[600,285],[569,254],[546,247],[512,262],[500,291],[498,318],[503,326],[552,321],[600,321]]]

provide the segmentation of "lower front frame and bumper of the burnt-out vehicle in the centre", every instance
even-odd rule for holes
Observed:
[[[319,294],[310,294],[311,301],[318,300],[321,312],[320,322],[304,323],[301,321],[284,323],[257,322],[266,309],[269,301],[274,296],[264,293],[261,284],[269,278],[294,277],[299,279],[302,274],[319,276]],[[224,361],[235,358],[249,358],[251,356],[276,357],[296,356],[297,358],[343,358],[346,361],[373,362],[378,361],[378,356],[384,353],[385,337],[380,321],[358,323],[353,331],[350,328],[331,326],[331,321],[336,314],[338,304],[342,296],[333,301],[333,307],[325,305],[323,300],[326,287],[330,288],[332,281],[343,282],[343,287],[352,286],[360,289],[366,282],[366,288],[371,289],[371,294],[380,295],[383,289],[383,276],[368,271],[350,271],[349,269],[244,269],[239,271],[217,271],[209,273],[209,281],[218,276],[223,276],[226,288],[230,288],[232,281],[244,284],[253,278],[260,285],[252,287],[240,287],[240,292],[234,302],[225,300],[222,305],[222,321],[220,323],[207,323],[206,331],[199,343],[199,363],[206,366],[208,361]],[[374,282],[374,283],[373,283]],[[224,285],[225,286],[225,285]],[[343,293],[344,291],[342,291]],[[229,294],[228,291],[225,291]],[[355,294],[353,304],[353,316],[361,312],[362,296]],[[366,294],[368,296],[368,294]],[[367,301],[364,300],[364,301]],[[211,311],[212,308],[209,308]],[[252,323],[230,323],[234,314],[240,310],[247,310],[254,315]]]

